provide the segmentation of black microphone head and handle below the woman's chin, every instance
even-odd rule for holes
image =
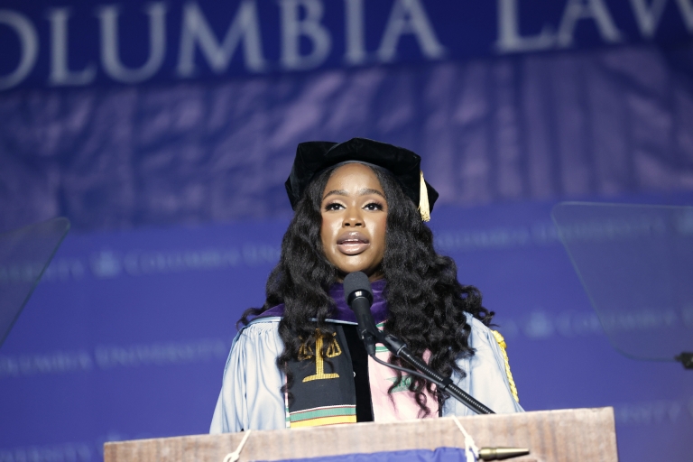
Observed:
[[[347,277],[344,278],[344,299],[347,300],[347,305],[356,315],[356,322],[358,322],[356,331],[358,337],[364,342],[366,353],[368,356],[374,356],[375,343],[380,332],[375,327],[371,313],[373,289],[371,289],[371,282],[368,281],[368,276],[365,273],[357,271],[347,274]]]

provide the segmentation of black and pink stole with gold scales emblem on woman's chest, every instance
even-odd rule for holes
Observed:
[[[356,387],[354,370],[347,347],[347,338],[339,324],[334,324],[335,333],[327,350],[327,358],[308,347],[301,347],[298,361],[290,361],[293,374],[291,394],[293,400],[286,404],[286,427],[318,427],[356,423]],[[381,328],[382,324],[378,327]],[[316,342],[316,350],[323,347],[322,340]],[[427,352],[428,353],[428,352]],[[385,347],[376,348],[376,356],[387,361],[390,352]],[[429,355],[424,356],[428,360]],[[378,422],[411,420],[419,417],[419,405],[414,400],[414,393],[407,387],[410,377],[402,376],[393,393],[388,393],[397,375],[395,371],[377,364],[368,358],[368,378],[371,388],[374,420]],[[429,418],[438,417],[438,402],[430,395],[426,396],[430,408]]]

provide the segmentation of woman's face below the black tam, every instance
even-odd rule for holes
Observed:
[[[370,167],[347,163],[332,173],[322,194],[322,248],[339,277],[364,272],[383,277],[387,201]]]

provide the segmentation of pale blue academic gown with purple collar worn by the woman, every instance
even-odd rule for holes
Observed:
[[[383,296],[384,282],[374,282],[373,289],[372,312],[375,322],[380,322],[387,314]],[[341,284],[333,286],[330,295],[336,300],[337,314],[336,319],[328,319],[328,322],[356,325],[353,312],[343,301]],[[285,377],[276,364],[277,356],[284,348],[282,338],[279,337],[279,322],[282,318],[273,316],[274,313],[282,313],[282,310],[280,305],[266,311],[260,318],[241,328],[236,335],[226,360],[210,433],[278,430],[287,427],[286,405],[280,391]],[[491,329],[468,313],[467,323],[471,326],[469,347],[474,348],[475,354],[457,360],[457,365],[467,375],[461,377],[453,372],[453,382],[496,413],[523,411],[522,406],[513,398],[505,372],[503,352]],[[443,417],[474,414],[475,411],[454,398],[448,398],[443,404]]]

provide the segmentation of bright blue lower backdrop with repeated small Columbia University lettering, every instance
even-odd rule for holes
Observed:
[[[614,351],[549,212],[443,207],[431,226],[498,313],[525,409],[614,406],[622,460],[685,460],[693,374]],[[286,225],[69,236],[0,351],[0,460],[97,462],[105,440],[207,432],[236,320],[263,303]]]

